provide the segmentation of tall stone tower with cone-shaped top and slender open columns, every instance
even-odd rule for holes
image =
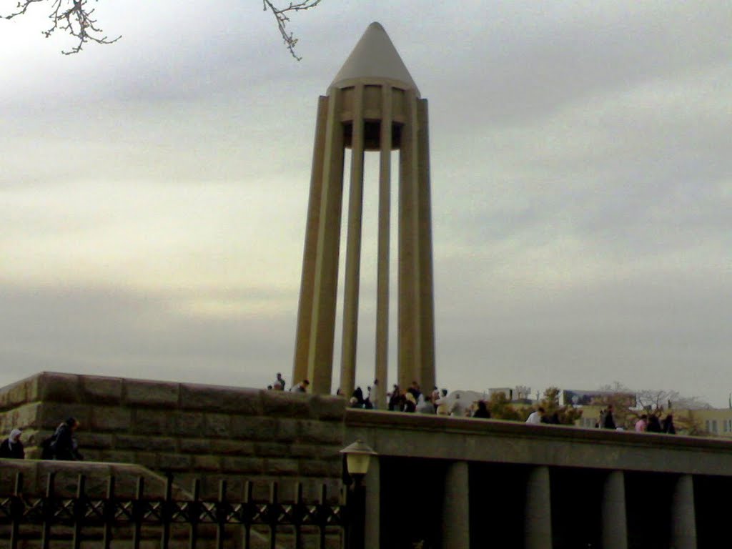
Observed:
[[[383,406],[389,345],[389,242],[392,151],[398,160],[397,377],[402,387],[435,383],[435,328],[427,100],[392,41],[371,23],[325,96],[318,100],[307,206],[293,382],[332,391],[344,160],[349,166],[340,389],[356,378],[364,156],[378,151],[376,372],[373,401]]]

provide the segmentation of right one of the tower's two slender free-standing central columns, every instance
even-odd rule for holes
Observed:
[[[389,365],[389,244],[392,212],[392,86],[381,88],[381,130],[378,156],[378,250],[376,265],[376,372],[374,404],[386,405]],[[374,545],[377,547],[377,545]]]

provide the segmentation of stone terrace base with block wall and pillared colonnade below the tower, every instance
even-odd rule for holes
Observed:
[[[338,450],[376,449],[367,548],[720,548],[732,444],[362,411],[322,395],[42,373],[0,389],[0,426],[34,444],[67,415],[90,460],[187,481],[337,487]],[[307,486],[310,488],[307,488]],[[183,485],[183,488],[187,486]],[[285,493],[283,489],[283,493]]]

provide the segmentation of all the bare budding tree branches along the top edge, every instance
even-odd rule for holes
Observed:
[[[99,0],[94,0],[94,2],[97,1]],[[295,53],[297,39],[287,28],[287,24],[290,22],[290,15],[294,12],[310,10],[310,8],[320,4],[320,2],[321,0],[299,0],[291,1],[286,6],[279,7],[274,0],[262,0],[262,9],[272,12],[272,15],[275,16],[277,29],[279,29],[280,35],[285,42],[285,47],[298,61],[301,58]],[[102,28],[97,23],[97,19],[93,17],[94,8],[89,7],[89,3],[90,0],[19,0],[18,5],[15,7],[15,12],[12,12],[10,15],[4,15],[4,18],[12,19],[18,17],[18,15],[24,15],[33,4],[50,4],[51,12],[48,18],[51,19],[51,26],[47,30],[42,31],[44,36],[46,38],[51,37],[51,34],[60,30],[62,33],[69,34],[76,41],[76,45],[73,48],[61,51],[64,55],[78,53],[84,45],[90,42],[113,44],[122,38],[122,35],[116,38],[110,38],[102,31]]]

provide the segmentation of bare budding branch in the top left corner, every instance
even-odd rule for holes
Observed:
[[[61,51],[64,55],[78,53],[88,42],[96,42],[97,44],[113,44],[122,35],[109,39],[100,27],[97,26],[97,20],[92,18],[94,9],[89,9],[89,0],[20,0],[18,1],[17,11],[6,15],[6,19],[12,19],[18,15],[23,15],[31,4],[37,4],[42,1],[51,1],[51,27],[43,31],[46,38],[50,37],[54,31],[69,33],[72,37],[78,39],[77,45],[67,51]],[[94,0],[97,1],[97,0]]]

